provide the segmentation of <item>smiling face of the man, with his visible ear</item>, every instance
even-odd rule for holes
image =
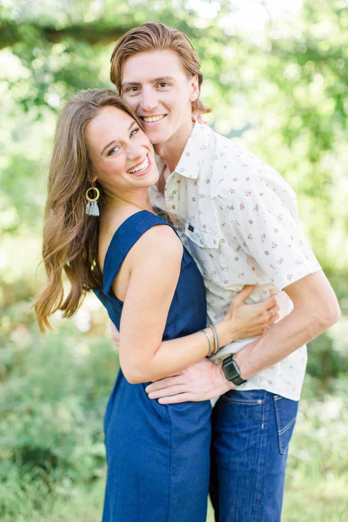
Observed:
[[[122,66],[121,94],[140,116],[151,143],[164,143],[191,122],[198,77],[187,78],[174,51],[138,53]]]

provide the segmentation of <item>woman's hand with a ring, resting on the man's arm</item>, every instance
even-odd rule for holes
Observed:
[[[278,293],[265,301],[246,304],[244,300],[253,292],[254,286],[247,284],[231,300],[229,310],[221,323],[229,329],[233,339],[245,339],[262,335],[269,326],[279,319]]]

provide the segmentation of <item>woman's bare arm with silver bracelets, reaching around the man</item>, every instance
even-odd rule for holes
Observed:
[[[119,359],[132,384],[160,379],[208,354],[208,339],[202,332],[162,342],[182,255],[183,245],[175,232],[161,225],[143,234],[125,259],[130,276],[119,331]],[[276,298],[273,300],[273,312],[277,312]],[[221,346],[240,336],[239,309],[242,306],[232,303],[225,318],[215,325]],[[263,328],[277,318],[261,307],[260,317]],[[206,331],[213,343],[211,328]]]

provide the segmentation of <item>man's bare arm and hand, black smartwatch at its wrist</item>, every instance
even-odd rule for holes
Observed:
[[[284,288],[294,310],[257,340],[234,355],[242,378],[283,360],[294,350],[321,334],[340,318],[340,308],[322,270],[308,274]],[[151,399],[161,404],[206,400],[224,394],[234,385],[227,381],[221,364],[202,360],[179,374],[147,386]]]

